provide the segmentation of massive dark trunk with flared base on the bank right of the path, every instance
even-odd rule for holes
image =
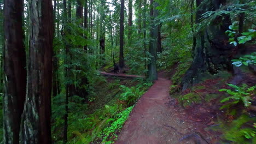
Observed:
[[[200,23],[201,15],[206,11],[218,10],[220,5],[226,4],[225,1],[211,1],[199,7],[202,1],[196,1],[197,8],[199,8],[196,12],[196,23]],[[197,33],[193,63],[182,81],[183,91],[199,82],[203,74],[216,74],[219,70],[231,69],[230,60],[235,47],[229,44],[229,38],[225,34],[229,25],[231,25],[230,17],[223,15]]]

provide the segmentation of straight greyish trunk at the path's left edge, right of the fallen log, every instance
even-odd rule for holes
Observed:
[[[156,7],[158,4],[154,0],[150,0],[150,42],[149,42],[149,53],[152,55],[150,63],[148,64],[148,79],[155,81],[158,79],[158,72],[156,70],[156,51],[157,51],[157,37],[158,37],[158,26],[156,26],[155,19],[158,16]]]

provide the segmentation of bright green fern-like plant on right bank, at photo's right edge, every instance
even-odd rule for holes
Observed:
[[[239,87],[229,83],[226,85],[230,86],[234,90],[220,89],[219,90],[220,92],[226,92],[229,94],[229,97],[226,97],[220,101],[221,103],[232,100],[231,104],[237,104],[239,102],[242,102],[245,107],[248,107],[249,105],[251,105],[251,100],[252,100],[251,96],[253,95],[254,88],[256,88],[256,86],[248,87],[246,84],[242,84],[242,86]],[[222,107],[220,107],[220,109],[223,109],[227,106],[228,105],[223,105]]]

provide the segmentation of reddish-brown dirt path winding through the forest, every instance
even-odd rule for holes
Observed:
[[[188,115],[169,96],[171,81],[160,77],[142,95],[127,119],[118,144],[209,143],[201,130],[181,115]],[[197,132],[196,132],[197,131]],[[183,140],[182,140],[183,139]]]

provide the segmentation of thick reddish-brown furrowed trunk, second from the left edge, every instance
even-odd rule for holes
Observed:
[[[49,144],[54,28],[52,1],[30,1],[30,13],[30,58],[20,142]]]

